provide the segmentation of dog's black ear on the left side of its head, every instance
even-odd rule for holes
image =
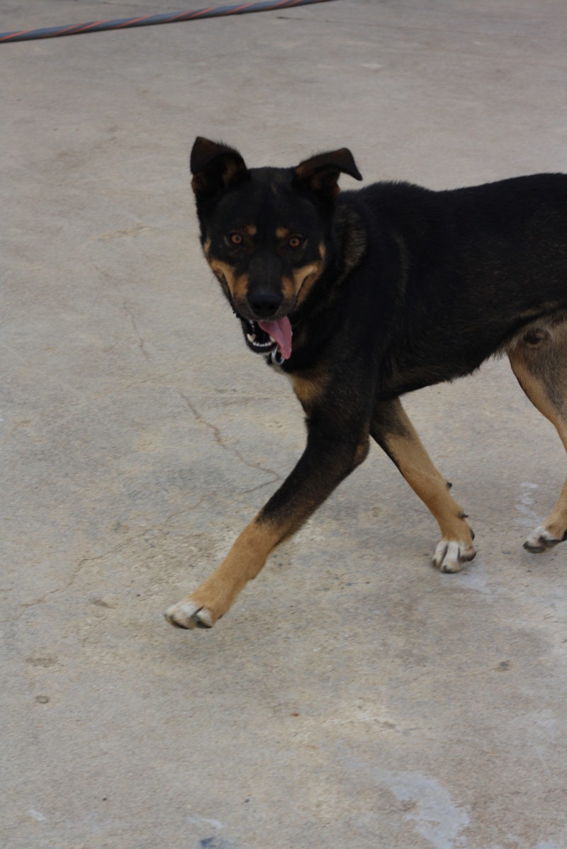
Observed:
[[[238,150],[201,136],[195,139],[190,168],[193,174],[191,185],[198,204],[211,200],[222,189],[250,179],[250,172]]]

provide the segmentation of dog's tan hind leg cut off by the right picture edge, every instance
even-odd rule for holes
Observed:
[[[555,425],[567,451],[567,323],[536,323],[508,350],[519,385],[532,404]],[[524,543],[540,552],[567,539],[567,481],[542,525]]]

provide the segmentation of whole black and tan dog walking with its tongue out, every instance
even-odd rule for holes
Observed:
[[[567,176],[433,192],[362,179],[347,149],[248,169],[224,144],[191,154],[203,250],[251,351],[288,374],[306,413],[295,469],[218,569],[166,617],[211,627],[269,554],[367,456],[372,436],[431,513],[433,562],[474,558],[463,509],[400,396],[506,353],[567,448]],[[567,484],[525,548],[567,538]]]

